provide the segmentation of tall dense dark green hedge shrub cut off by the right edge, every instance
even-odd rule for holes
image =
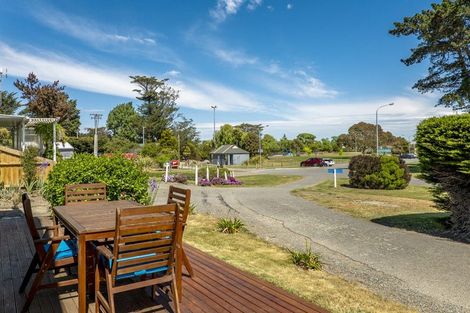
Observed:
[[[470,114],[433,117],[416,133],[422,176],[436,203],[450,210],[454,232],[470,240]]]

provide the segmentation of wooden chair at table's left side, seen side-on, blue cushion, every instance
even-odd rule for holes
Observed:
[[[37,273],[31,284],[31,289],[26,296],[26,302],[21,312],[28,311],[31,302],[38,290],[43,288],[57,288],[78,284],[78,279],[68,279],[43,284],[44,274],[49,270],[68,268],[77,264],[77,243],[70,240],[69,236],[59,236],[59,226],[36,227],[31,209],[31,200],[28,194],[22,195],[24,215],[28,224],[29,232],[34,242],[35,254],[29,265],[28,271],[20,286],[20,293],[23,293],[28,285],[33,273]],[[39,230],[45,230],[44,236],[39,235]],[[48,231],[53,232],[52,237],[47,237]]]

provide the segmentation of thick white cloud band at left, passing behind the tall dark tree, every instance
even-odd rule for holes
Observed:
[[[47,51],[27,53],[0,42],[0,64],[5,64],[13,76],[26,77],[34,72],[41,80],[59,80],[67,87],[84,91],[134,98],[130,84],[132,70],[116,70],[111,67],[97,67],[75,59]],[[166,74],[177,76],[179,72]],[[253,100],[252,95],[222,84],[203,80],[177,81],[172,84],[180,90],[178,103],[183,107],[207,110],[216,104],[221,111],[256,112],[263,105]]]

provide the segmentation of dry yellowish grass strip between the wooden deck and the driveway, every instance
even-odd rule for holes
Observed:
[[[333,313],[416,312],[325,271],[300,269],[292,264],[289,251],[251,233],[217,232],[214,217],[195,214],[190,216],[188,223],[185,229],[187,243]]]

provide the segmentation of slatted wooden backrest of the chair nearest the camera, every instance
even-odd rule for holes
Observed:
[[[113,283],[116,276],[167,267],[173,271],[180,236],[176,204],[118,209],[114,239]]]

